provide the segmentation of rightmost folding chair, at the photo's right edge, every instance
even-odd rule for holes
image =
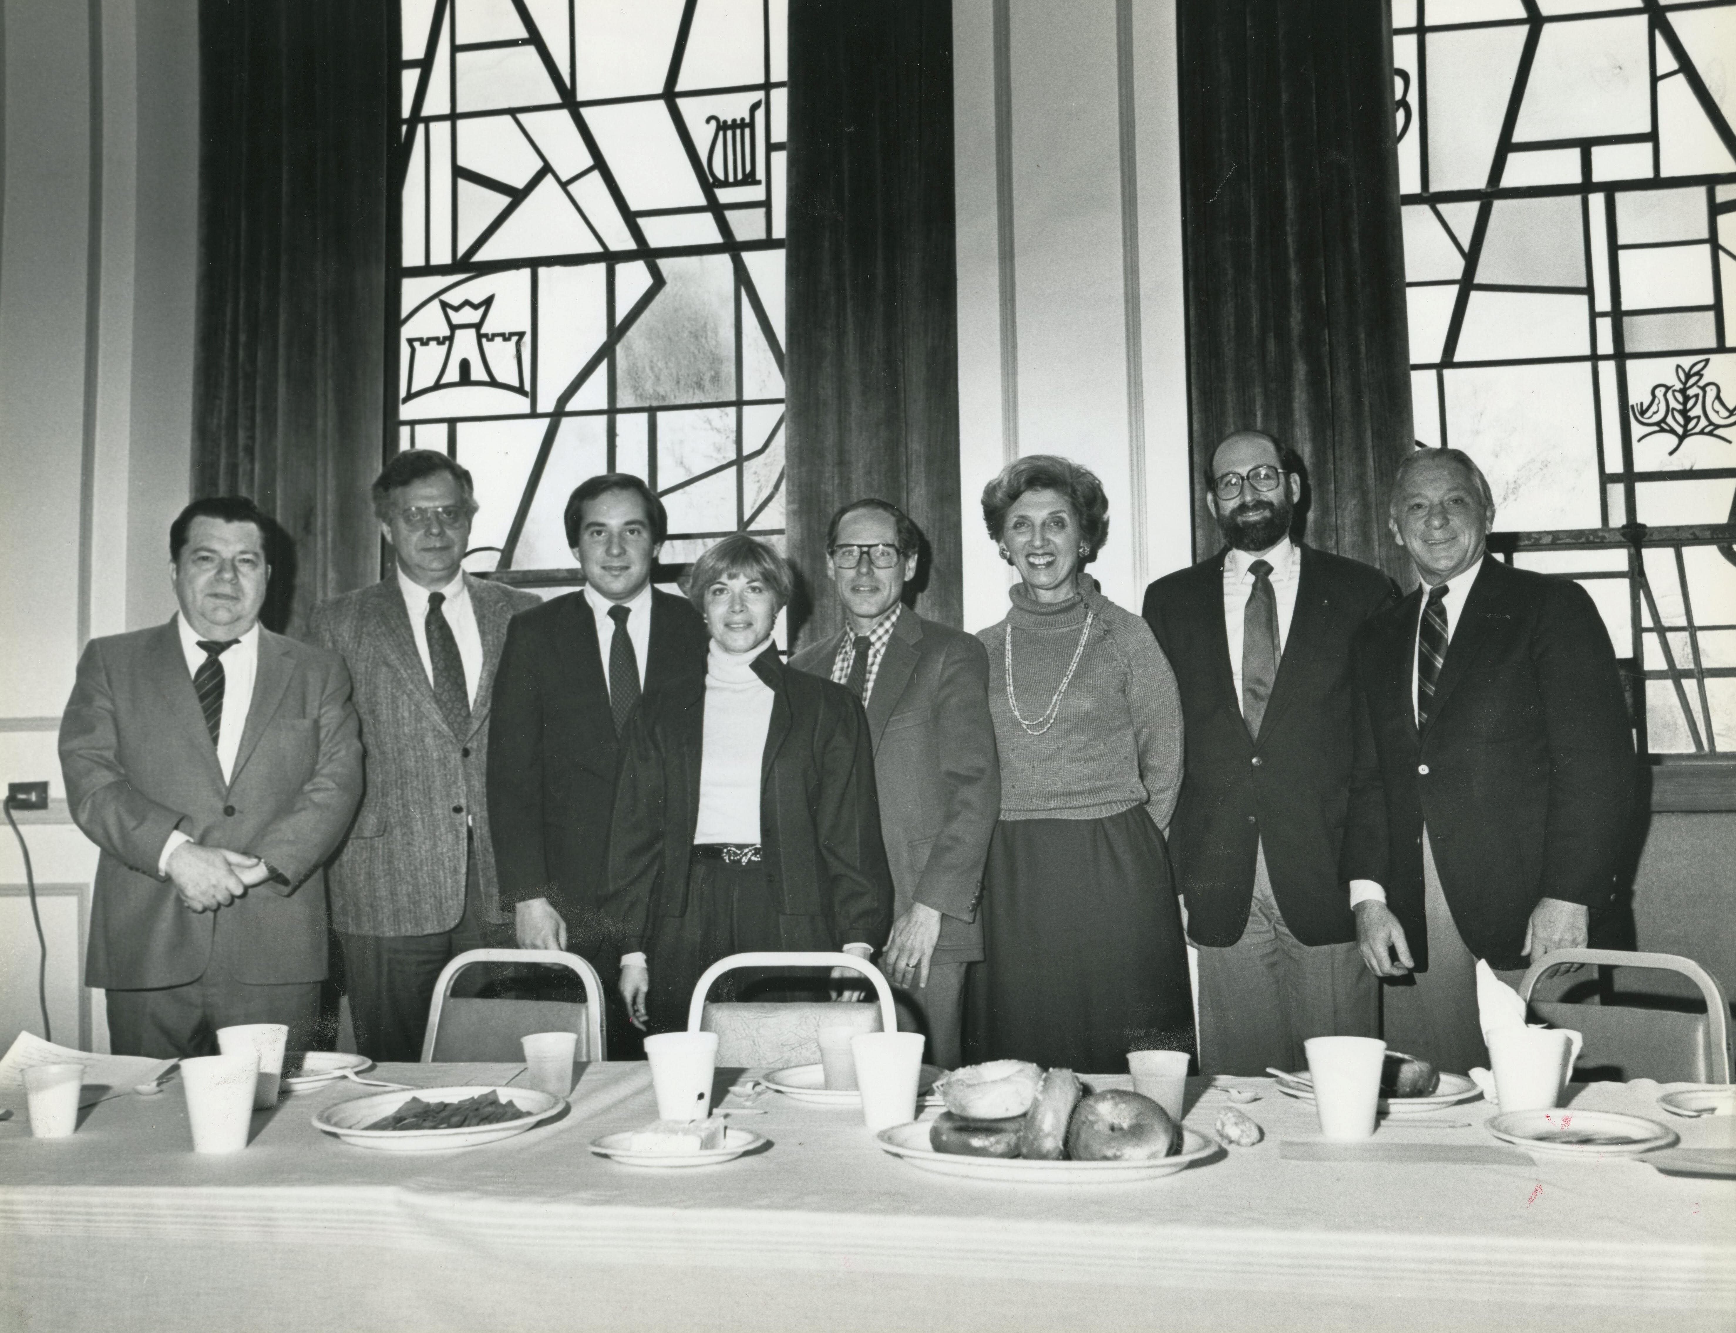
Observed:
[[[1644,967],[1679,972],[1700,986],[1705,1014],[1637,1005],[1531,1003],[1536,982],[1562,963],[1599,967]],[[1555,949],[1531,963],[1519,982],[1519,998],[1552,1028],[1573,1028],[1585,1036],[1578,1064],[1614,1067],[1621,1078],[1654,1078],[1660,1083],[1729,1083],[1729,1008],[1717,981],[1693,958],[1674,953],[1625,953],[1621,949]]]

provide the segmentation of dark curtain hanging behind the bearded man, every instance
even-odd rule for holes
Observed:
[[[1411,450],[1392,47],[1384,0],[1177,7],[1189,411],[1307,463],[1312,545],[1399,573]],[[1220,545],[1194,483],[1200,557]]]

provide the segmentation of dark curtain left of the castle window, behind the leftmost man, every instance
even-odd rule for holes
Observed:
[[[266,623],[378,578],[398,0],[201,0],[193,493],[281,531]]]

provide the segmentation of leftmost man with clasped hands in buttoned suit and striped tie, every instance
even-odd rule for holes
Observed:
[[[92,639],[61,720],[97,844],[85,984],[118,1055],[212,1055],[281,1022],[306,1048],[326,975],[323,864],[361,798],[349,673],[259,625],[267,519],[194,500],[168,529],[179,614]]]

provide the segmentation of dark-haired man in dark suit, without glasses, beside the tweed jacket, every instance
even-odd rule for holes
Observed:
[[[512,621],[495,677],[488,811],[500,896],[526,949],[571,949],[611,996],[609,1050],[632,1054],[613,984],[620,941],[606,887],[620,734],[641,694],[703,680],[708,637],[686,597],[651,587],[668,515],[639,477],[590,477],[566,503],[566,540],[583,592]]]

